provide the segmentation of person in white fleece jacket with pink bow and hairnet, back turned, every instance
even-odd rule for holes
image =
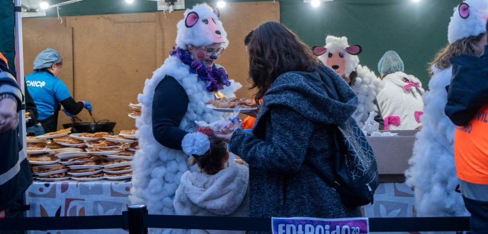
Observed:
[[[425,92],[418,78],[403,73],[403,61],[392,50],[378,63],[383,88],[376,99],[385,119],[385,130],[410,130],[421,126]]]

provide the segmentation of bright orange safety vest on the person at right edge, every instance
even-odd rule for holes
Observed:
[[[488,104],[465,126],[456,126],[454,158],[458,178],[488,184]]]

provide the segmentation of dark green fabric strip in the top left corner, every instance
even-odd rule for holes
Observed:
[[[8,60],[8,67],[15,74],[15,18],[12,0],[0,0],[0,52]]]

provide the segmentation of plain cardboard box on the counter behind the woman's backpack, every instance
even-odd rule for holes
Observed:
[[[381,174],[403,175],[410,167],[408,159],[412,157],[415,134],[418,130],[381,131],[398,133],[394,137],[367,137],[378,163]]]

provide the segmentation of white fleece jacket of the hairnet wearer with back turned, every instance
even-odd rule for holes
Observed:
[[[403,78],[418,83],[420,87],[409,86],[410,90],[406,90],[403,86],[407,83],[403,81]],[[420,126],[420,123],[415,119],[415,112],[423,112],[424,109],[422,94],[425,90],[422,88],[422,82],[414,76],[402,72],[390,74],[384,77],[381,82],[383,88],[376,98],[383,118],[390,115],[400,117],[400,125],[390,125],[389,130],[409,130]]]

